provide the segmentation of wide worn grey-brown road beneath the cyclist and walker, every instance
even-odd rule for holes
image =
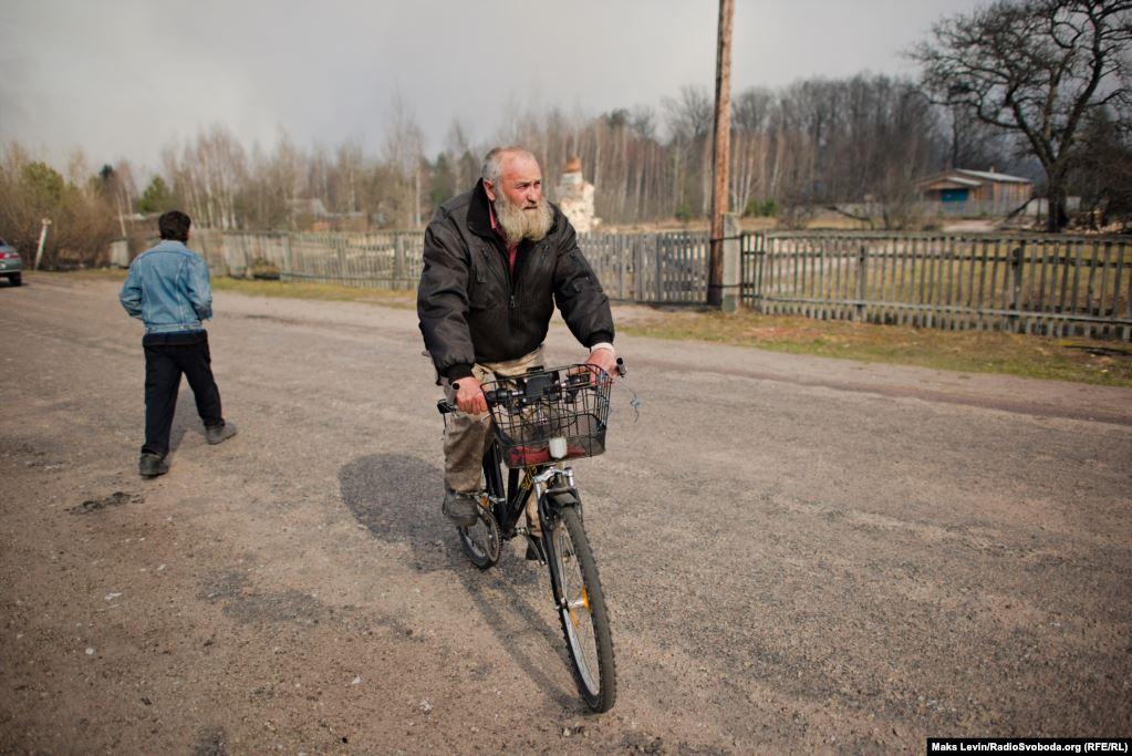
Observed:
[[[225,414],[137,478],[111,282],[0,291],[0,751],[920,751],[1127,734],[1132,390],[619,338],[577,464],[619,691],[463,557],[412,311],[221,293]],[[625,313],[631,317],[631,312]],[[577,354],[556,327],[550,352]]]

